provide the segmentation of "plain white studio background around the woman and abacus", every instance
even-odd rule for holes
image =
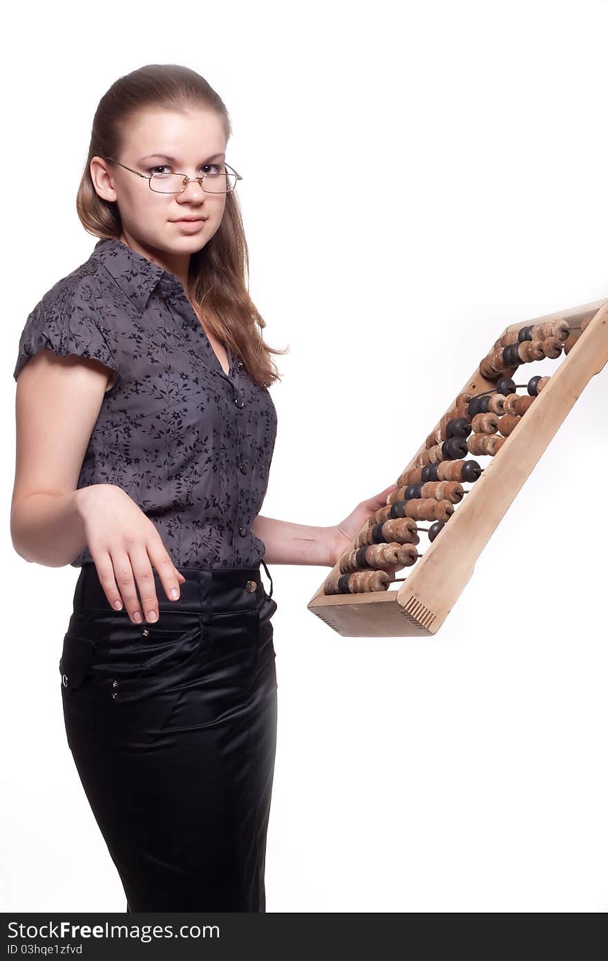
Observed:
[[[222,6],[214,28],[205,5],[11,9],[5,911],[125,909],[61,715],[77,572],[27,564],[9,530],[18,338],[92,249],[75,195],[108,86],[178,62],[231,113],[251,292],[290,347],[266,516],[336,524],[507,324],[608,297],[606,2]],[[608,368],[432,639],[341,637],[306,609],[328,568],[273,565],[268,911],[608,909],[607,402]]]

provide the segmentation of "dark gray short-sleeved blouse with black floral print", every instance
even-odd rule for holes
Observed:
[[[251,525],[268,486],[277,411],[230,348],[224,373],[175,274],[119,240],[99,240],[27,318],[15,381],[43,348],[116,373],[78,487],[122,487],[178,568],[256,566],[265,545]],[[85,548],[71,564],[91,560]]]

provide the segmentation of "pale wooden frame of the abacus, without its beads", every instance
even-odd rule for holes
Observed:
[[[551,438],[587,383],[608,360],[608,300],[511,324],[503,332],[557,320],[567,320],[573,327],[590,316],[593,319],[584,332],[572,332],[576,334],[576,343],[570,353],[562,358],[547,385],[496,456],[490,458],[481,477],[454,509],[445,528],[428,544],[399,590],[326,595],[324,579],[308,603],[308,610],[345,637],[428,637],[437,632],[471,578],[477,557]],[[502,376],[513,377],[522,367],[525,369],[527,364],[505,370]],[[479,394],[495,389],[496,382],[481,377],[477,367],[462,392]],[[440,423],[441,418],[433,432]],[[426,441],[401,473],[411,469],[425,450]],[[328,576],[339,573],[337,563]],[[401,570],[398,576],[403,577]]]

